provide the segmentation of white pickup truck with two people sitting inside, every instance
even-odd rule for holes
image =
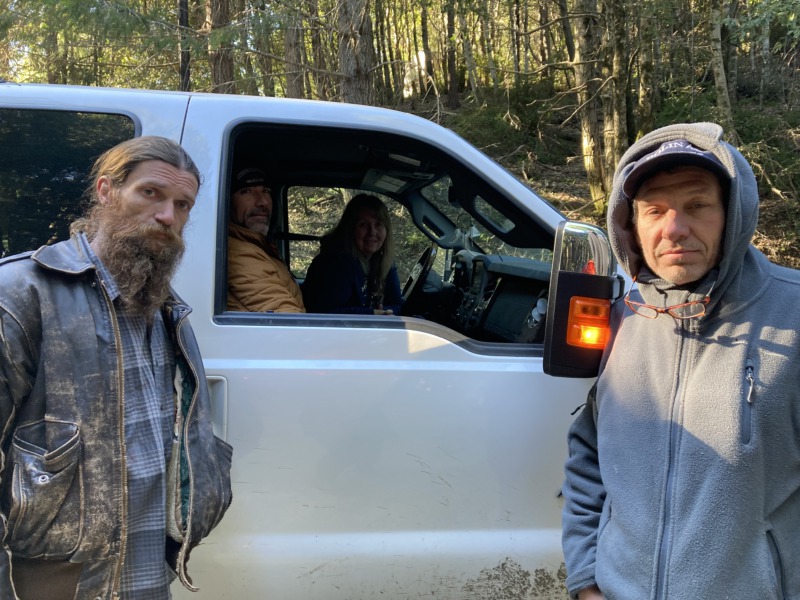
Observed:
[[[557,272],[615,272],[602,232],[577,226],[554,253],[557,210],[400,112],[0,83],[0,252],[66,238],[94,158],[138,135],[179,141],[204,176],[174,284],[234,447],[233,504],[189,565],[200,592],[176,598],[565,598],[566,431],[592,380],[545,374],[544,338]],[[422,241],[398,264],[404,314],[228,311],[243,163],[275,179],[273,236],[299,280],[318,235],[290,215],[320,194],[384,199]],[[580,291],[590,276],[575,274]]]

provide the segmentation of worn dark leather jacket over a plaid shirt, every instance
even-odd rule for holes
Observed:
[[[181,408],[180,460],[167,480],[177,531],[166,556],[194,589],[186,563],[230,504],[231,447],[212,432],[190,308],[173,294],[162,311]],[[113,305],[78,238],[0,261],[0,598],[17,598],[17,558],[81,563],[76,598],[119,597],[128,503],[122,365]]]

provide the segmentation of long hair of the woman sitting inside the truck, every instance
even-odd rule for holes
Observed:
[[[347,203],[339,223],[323,238],[322,252],[345,251],[359,258],[361,255],[356,247],[356,224],[365,210],[372,212],[386,229],[386,239],[383,246],[369,259],[368,278],[372,280],[370,287],[377,286],[381,291],[386,281],[386,275],[394,264],[394,238],[392,236],[392,221],[389,210],[377,196],[358,194]]]

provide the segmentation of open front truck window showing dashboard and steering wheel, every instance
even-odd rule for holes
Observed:
[[[228,181],[234,165],[258,167],[273,180],[271,241],[298,282],[347,200],[367,193],[389,209],[405,298],[401,316],[436,324],[453,341],[542,342],[537,306],[549,286],[552,234],[458,156],[398,134],[267,123],[239,125],[230,148]],[[220,223],[227,227],[227,214]],[[216,322],[290,326],[297,319],[250,313],[243,321],[242,313],[225,310],[226,265],[219,266]],[[326,315],[314,323],[370,326],[364,318]]]

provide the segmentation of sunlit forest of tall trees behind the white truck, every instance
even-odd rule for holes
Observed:
[[[0,78],[413,112],[600,224],[637,137],[715,121],[800,268],[800,0],[0,0]]]

